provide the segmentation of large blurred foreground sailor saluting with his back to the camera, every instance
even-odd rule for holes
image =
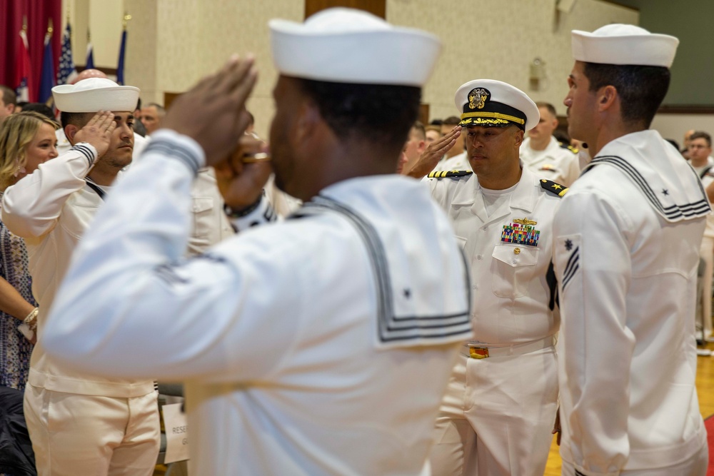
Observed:
[[[174,102],[117,185],[47,347],[73,368],[186,381],[194,475],[427,475],[472,333],[468,273],[443,211],[394,171],[441,46],[351,9],[269,26],[275,182],[305,205],[182,257],[202,166],[237,228],[270,216],[268,163],[226,161],[256,80],[233,59]]]

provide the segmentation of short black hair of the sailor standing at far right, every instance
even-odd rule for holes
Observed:
[[[625,123],[649,128],[669,89],[671,74],[664,66],[585,63],[590,91],[614,86],[622,98],[620,113]]]

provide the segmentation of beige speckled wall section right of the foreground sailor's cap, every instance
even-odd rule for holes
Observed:
[[[443,52],[423,102],[431,118],[458,111],[453,95],[471,79],[506,81],[534,101],[553,103],[565,113],[565,79],[573,67],[570,30],[593,31],[610,23],[638,24],[637,11],[600,0],[575,2],[568,14],[557,14],[555,0],[387,0],[387,19],[394,24],[431,31],[443,41]],[[545,79],[529,87],[529,64],[545,61]]]

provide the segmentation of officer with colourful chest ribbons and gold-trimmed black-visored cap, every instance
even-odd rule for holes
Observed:
[[[558,309],[550,265],[565,187],[519,160],[535,103],[501,81],[456,91],[473,173],[433,172],[471,267],[474,340],[461,348],[436,420],[435,475],[542,476],[558,400]]]

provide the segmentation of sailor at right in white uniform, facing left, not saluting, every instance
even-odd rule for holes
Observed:
[[[563,475],[703,476],[694,328],[710,208],[649,130],[679,41],[622,24],[572,41],[568,132],[593,160],[554,224]]]

